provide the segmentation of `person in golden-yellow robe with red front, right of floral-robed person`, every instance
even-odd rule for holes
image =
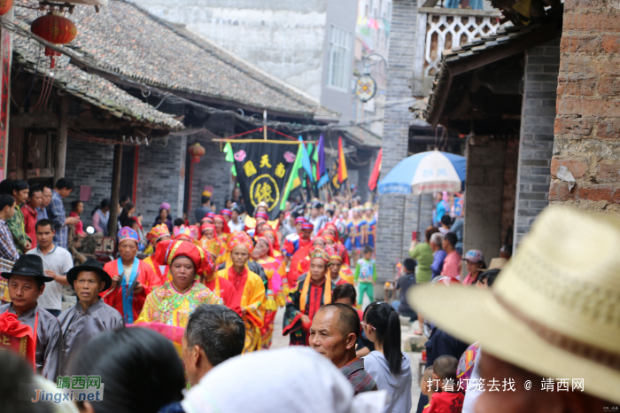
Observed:
[[[245,232],[237,232],[229,242],[230,260],[218,277],[229,280],[235,287],[235,298],[230,308],[240,308],[239,316],[245,323],[244,353],[260,349],[260,329],[264,325],[266,293],[262,279],[248,269],[247,261],[254,245]]]

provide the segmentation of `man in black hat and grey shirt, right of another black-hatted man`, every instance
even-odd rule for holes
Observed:
[[[95,258],[89,258],[78,267],[70,269],[66,275],[78,303],[58,317],[62,329],[66,366],[69,357],[84,343],[106,330],[114,330],[125,325],[120,313],[99,298],[112,285],[112,278],[104,271],[104,266]]]

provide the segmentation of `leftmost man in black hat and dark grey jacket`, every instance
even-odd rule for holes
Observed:
[[[45,283],[53,280],[43,272],[43,260],[36,255],[22,255],[2,277],[9,280],[11,303],[0,306],[0,314],[15,314],[20,323],[33,329],[36,372],[56,382],[62,361],[62,332],[55,316],[40,308],[39,299]]]

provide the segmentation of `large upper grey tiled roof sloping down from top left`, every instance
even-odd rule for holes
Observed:
[[[16,8],[30,23],[36,12]],[[111,0],[95,12],[75,8],[78,35],[68,46],[93,65],[153,87],[312,117],[335,115],[317,100],[136,4]],[[248,40],[252,41],[252,40]]]

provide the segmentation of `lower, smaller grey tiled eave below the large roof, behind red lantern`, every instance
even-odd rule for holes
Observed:
[[[44,75],[49,58],[44,59],[43,47],[33,39],[16,35],[13,40],[14,62],[31,73]],[[40,58],[41,57],[41,58]],[[49,68],[47,68],[49,71]],[[54,72],[54,85],[58,89],[81,100],[95,105],[114,116],[127,121],[140,121],[155,128],[182,129],[183,125],[175,121],[172,115],[162,113],[121,90],[97,74],[88,74],[69,63],[66,58],[57,59]]]

